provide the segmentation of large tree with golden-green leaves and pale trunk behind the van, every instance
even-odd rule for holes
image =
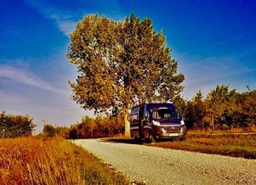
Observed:
[[[71,33],[66,54],[77,65],[71,98],[83,109],[122,114],[129,133],[128,109],[134,104],[167,102],[182,91],[185,76],[177,74],[162,31],[149,18],[131,14],[123,22],[89,14]]]

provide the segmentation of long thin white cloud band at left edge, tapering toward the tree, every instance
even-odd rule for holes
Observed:
[[[65,92],[64,90],[52,86],[51,84],[49,84],[46,81],[43,81],[31,72],[9,66],[0,66],[0,79],[1,78],[3,78],[2,80],[5,79],[7,81],[22,83],[27,86],[37,87],[39,89],[59,93],[61,95],[67,94],[67,92]]]

